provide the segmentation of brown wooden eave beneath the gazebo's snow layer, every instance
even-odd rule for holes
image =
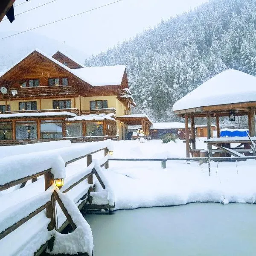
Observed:
[[[215,116],[215,112],[219,113],[219,116],[229,116],[230,110],[236,111],[236,115],[247,115],[250,107],[256,107],[256,101],[253,102],[241,102],[241,103],[231,103],[231,104],[222,104],[222,105],[212,105],[204,106],[198,108],[188,108],[183,110],[173,111],[176,115],[184,117],[185,114],[194,117],[206,117],[207,113],[210,111],[211,116]]]

